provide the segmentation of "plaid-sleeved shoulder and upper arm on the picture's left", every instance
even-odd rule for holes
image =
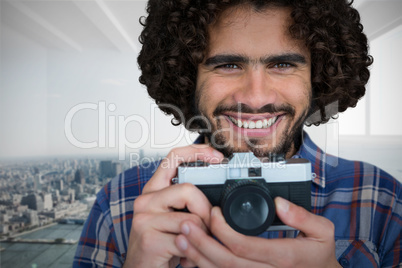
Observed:
[[[152,162],[134,166],[113,178],[98,192],[83,227],[74,267],[84,264],[121,266],[128,248],[134,200],[158,165],[159,162]]]

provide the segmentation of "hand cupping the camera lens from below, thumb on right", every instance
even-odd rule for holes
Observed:
[[[341,267],[335,257],[334,225],[283,198],[276,198],[283,223],[300,230],[297,238],[265,239],[234,231],[220,208],[211,213],[211,232],[183,222],[177,247],[199,267]]]

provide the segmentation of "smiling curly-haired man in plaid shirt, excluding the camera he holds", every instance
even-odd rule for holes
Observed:
[[[357,11],[344,0],[151,0],[148,13],[140,81],[203,135],[103,188],[74,266],[400,267],[401,185],[302,132],[364,95],[372,59]],[[182,162],[248,151],[312,163],[311,212],[275,199],[300,232],[242,235],[197,187],[171,183]]]

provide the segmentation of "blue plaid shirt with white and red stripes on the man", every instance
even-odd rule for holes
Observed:
[[[343,267],[402,267],[401,184],[373,165],[325,154],[307,134],[294,157],[306,158],[312,164],[312,212],[335,224],[339,263]],[[123,265],[133,202],[158,164],[133,167],[98,193],[82,230],[73,267]],[[282,231],[261,236],[295,235]]]

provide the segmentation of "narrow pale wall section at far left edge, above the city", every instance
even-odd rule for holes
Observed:
[[[5,26],[0,41],[0,154],[46,153],[47,50]]]

